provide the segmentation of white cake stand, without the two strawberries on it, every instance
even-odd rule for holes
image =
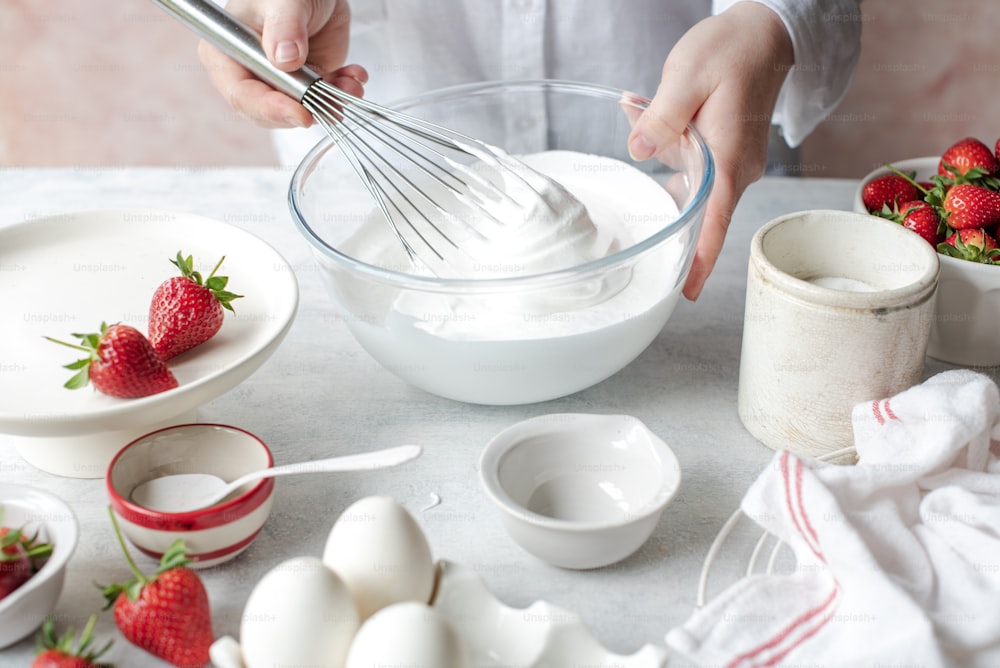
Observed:
[[[285,259],[258,237],[202,216],[107,209],[0,227],[0,434],[43,471],[103,477],[129,441],[194,419],[196,409],[256,371],[284,339],[298,308]],[[146,331],[156,287],[193,255],[207,274],[223,255],[236,313],[209,342],[170,361],[179,387],[141,399],[63,387],[78,359],[47,341],[121,322]],[[82,353],[81,353],[82,355]]]

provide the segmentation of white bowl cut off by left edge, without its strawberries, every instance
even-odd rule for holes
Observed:
[[[0,648],[37,629],[52,613],[66,580],[66,564],[76,549],[80,528],[66,503],[48,492],[0,482],[3,524],[23,526],[29,535],[52,545],[52,556],[30,580],[0,601]]]

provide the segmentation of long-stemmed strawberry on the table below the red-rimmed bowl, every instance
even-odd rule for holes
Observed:
[[[125,547],[114,513],[108,512],[134,578],[102,588],[105,609],[114,606],[115,624],[129,642],[181,668],[204,666],[214,641],[212,614],[205,585],[186,567],[191,560],[184,541],[174,541],[156,573],[147,577]]]

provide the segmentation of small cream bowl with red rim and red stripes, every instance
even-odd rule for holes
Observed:
[[[125,537],[160,559],[184,539],[192,568],[208,568],[245,550],[271,512],[274,479],[250,483],[218,505],[183,513],[152,510],[130,499],[140,484],[174,473],[211,473],[226,482],[273,464],[271,452],[253,434],[220,424],[188,424],[146,434],[115,455],[105,478],[111,508]]]

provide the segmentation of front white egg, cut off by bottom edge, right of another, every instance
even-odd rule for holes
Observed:
[[[396,603],[369,617],[347,653],[345,668],[465,668],[462,641],[448,620],[423,603]]]

